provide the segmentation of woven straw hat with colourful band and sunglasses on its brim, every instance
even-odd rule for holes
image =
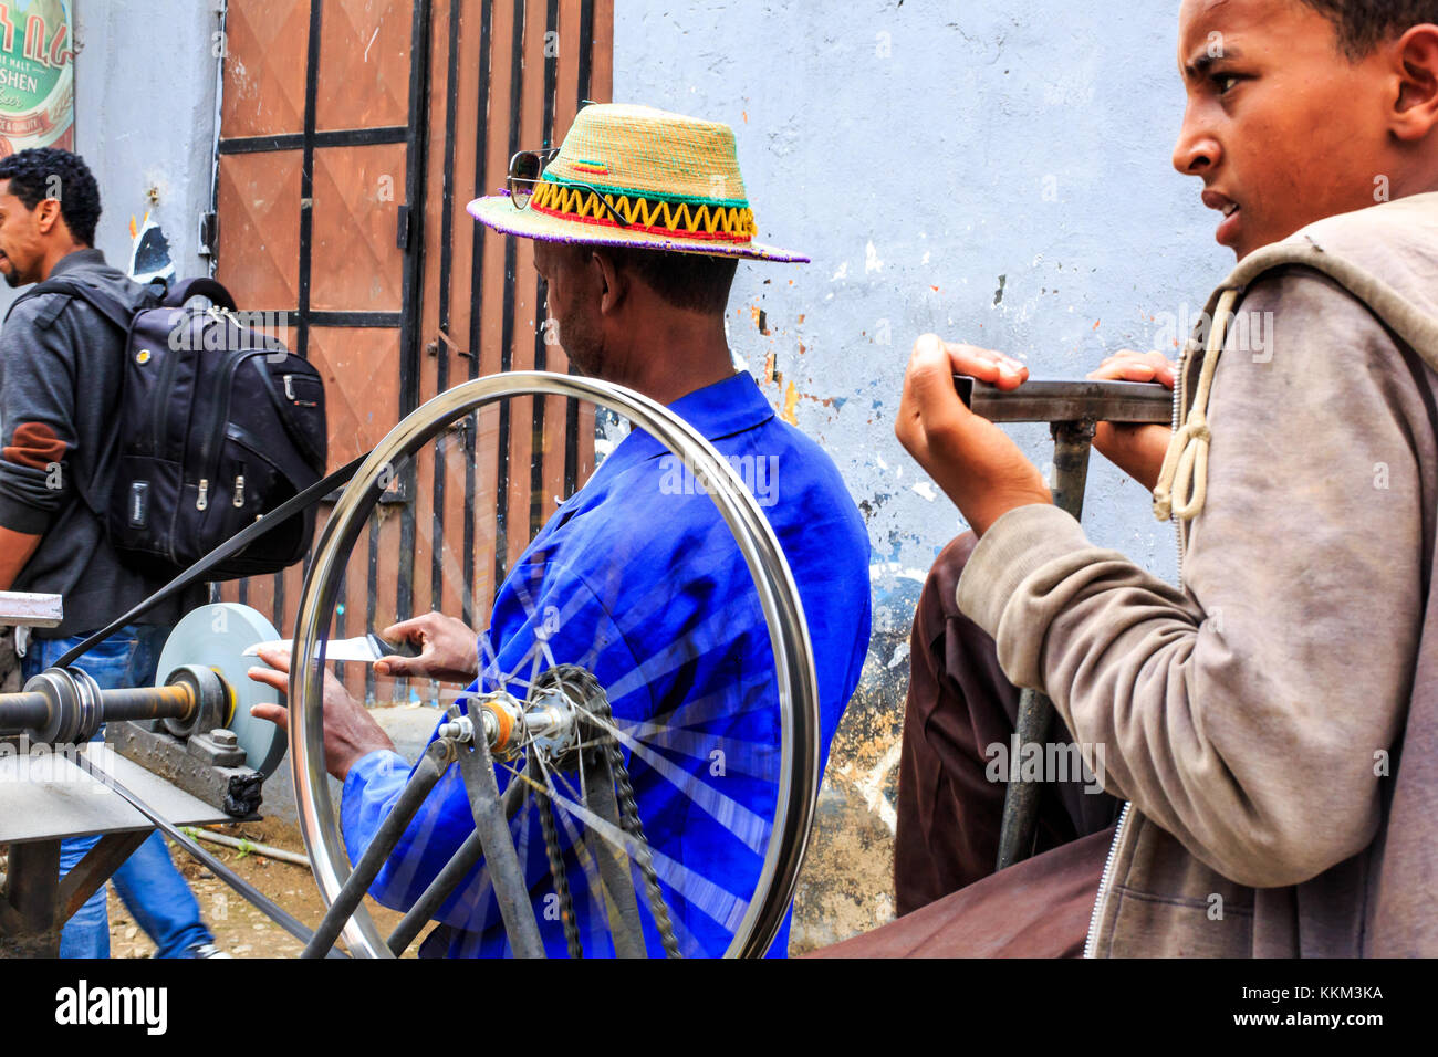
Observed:
[[[545,242],[808,262],[754,240],[732,128],[650,106],[584,106],[525,209],[505,190],[469,203],[469,213],[498,232]]]

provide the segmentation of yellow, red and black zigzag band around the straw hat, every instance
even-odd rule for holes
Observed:
[[[628,221],[628,229],[614,221],[595,191],[552,180],[541,180],[535,184],[529,209],[582,224],[677,234],[686,239],[746,243],[752,242],[758,232],[754,223],[754,210],[748,206],[726,206],[703,200],[670,201],[633,193],[605,193],[604,200]]]

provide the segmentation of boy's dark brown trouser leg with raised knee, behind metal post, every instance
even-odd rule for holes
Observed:
[[[1020,692],[999,669],[994,639],[955,600],[975,544],[965,532],[939,554],[915,613],[894,833],[899,915],[988,877],[998,856],[1005,784],[988,779],[985,749],[1008,745]],[[1058,719],[1054,741],[1070,741]],[[1037,850],[1110,825],[1117,807],[1080,781],[1045,788]]]

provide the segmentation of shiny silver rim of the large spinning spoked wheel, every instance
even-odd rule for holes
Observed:
[[[339,578],[380,490],[385,469],[411,459],[434,436],[482,407],[513,397],[568,397],[604,407],[643,429],[692,467],[718,508],[749,569],[769,633],[781,720],[778,794],[758,883],[733,932],[726,956],[762,956],[794,896],[818,795],[818,692],[808,627],[778,539],[735,469],[697,430],[661,404],[621,385],[590,378],[516,371],[457,385],[395,426],[345,488],[315,546],[301,594],[290,672],[290,769],[299,824],[325,903],[349,874],[324,769],[322,647]],[[349,951],[390,956],[361,906],[342,932]]]

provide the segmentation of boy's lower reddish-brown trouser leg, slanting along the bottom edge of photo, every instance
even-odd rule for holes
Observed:
[[[1080,958],[1113,827],[969,884],[812,958]]]

